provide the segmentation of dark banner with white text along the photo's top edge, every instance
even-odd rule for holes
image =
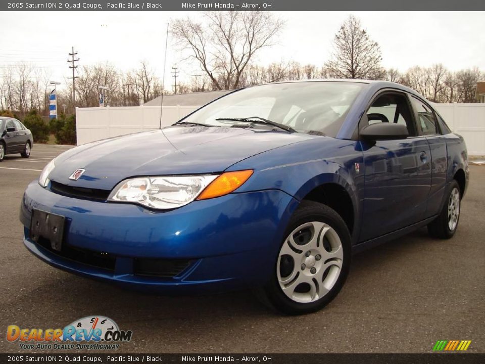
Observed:
[[[483,0],[5,1],[0,11],[477,11]]]

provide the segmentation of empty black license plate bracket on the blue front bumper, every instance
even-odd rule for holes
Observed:
[[[51,242],[51,248],[60,251],[65,221],[64,216],[33,209],[30,219],[30,239],[34,242],[38,242],[40,237],[48,239]]]

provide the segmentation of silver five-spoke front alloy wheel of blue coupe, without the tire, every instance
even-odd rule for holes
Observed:
[[[295,302],[317,301],[335,285],[343,257],[342,242],[330,225],[304,223],[289,234],[279,252],[279,286]]]

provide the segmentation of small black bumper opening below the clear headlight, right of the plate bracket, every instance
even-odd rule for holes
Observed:
[[[187,269],[192,262],[190,259],[136,258],[133,273],[140,276],[172,278]]]

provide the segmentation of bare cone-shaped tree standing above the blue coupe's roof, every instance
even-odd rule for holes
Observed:
[[[334,50],[325,63],[331,77],[378,79],[385,75],[380,62],[380,47],[362,28],[360,20],[350,15],[333,39]]]

